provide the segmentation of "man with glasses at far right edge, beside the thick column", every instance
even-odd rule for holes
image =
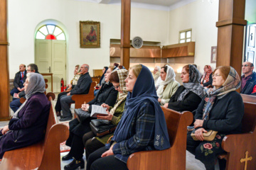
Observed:
[[[253,72],[251,62],[242,63],[241,94],[253,94],[256,92],[256,73]]]

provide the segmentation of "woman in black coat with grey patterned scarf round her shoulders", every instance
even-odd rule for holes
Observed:
[[[164,107],[174,111],[196,111],[204,96],[203,87],[199,84],[200,73],[196,67],[189,64],[181,71],[183,86],[179,86],[176,93],[171,96],[169,103]]]

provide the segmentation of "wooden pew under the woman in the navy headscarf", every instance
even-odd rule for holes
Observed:
[[[161,107],[166,118],[171,147],[165,150],[136,152],[129,156],[129,170],[186,169],[187,126],[193,121],[193,114],[185,111],[179,113]]]

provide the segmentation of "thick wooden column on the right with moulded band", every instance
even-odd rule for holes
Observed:
[[[216,66],[232,66],[241,75],[245,0],[219,0]]]

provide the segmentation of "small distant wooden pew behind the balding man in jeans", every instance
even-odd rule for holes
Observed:
[[[75,101],[75,108],[81,108],[81,105],[83,103],[88,103],[89,101],[92,101],[93,98],[95,98],[94,96],[94,87],[96,86],[95,82],[92,82],[92,84],[90,85],[90,90],[88,92],[88,94],[74,94],[72,96],[72,100]]]

